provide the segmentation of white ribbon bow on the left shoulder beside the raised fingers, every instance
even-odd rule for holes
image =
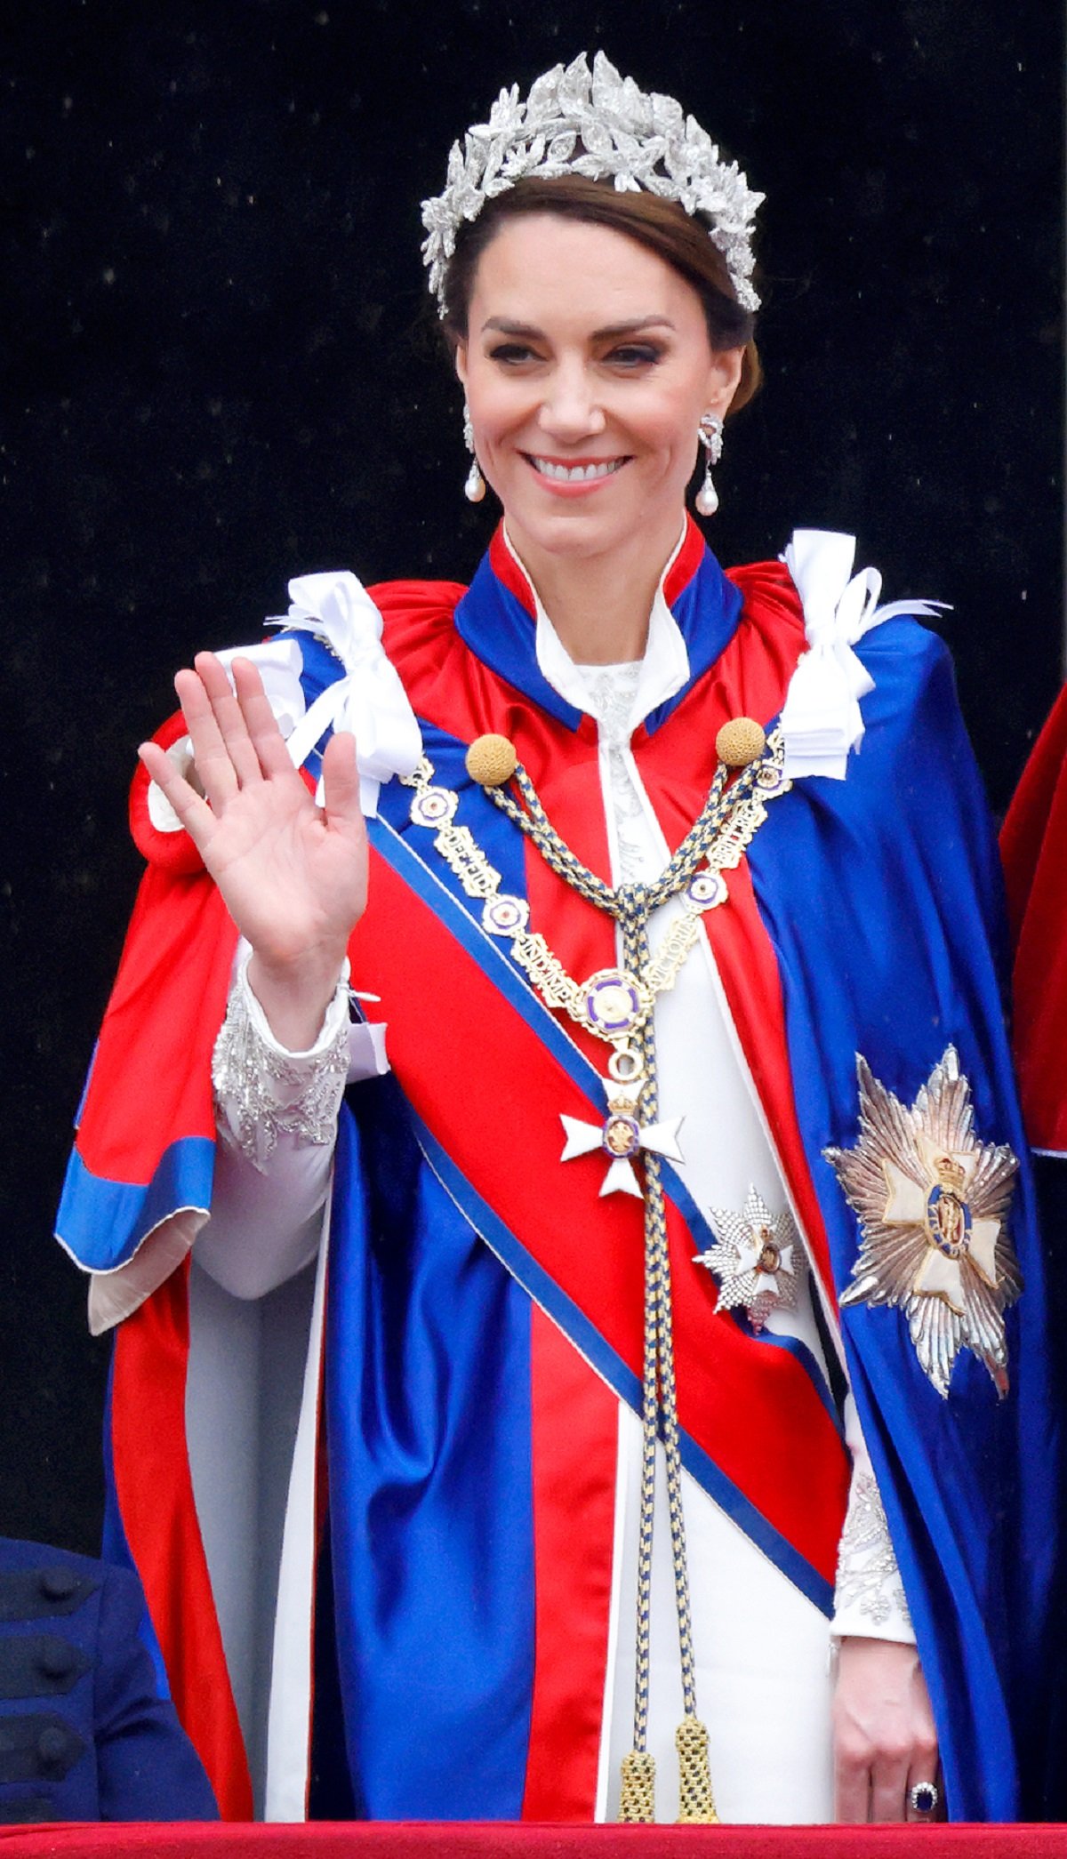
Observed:
[[[299,768],[327,729],[351,731],[362,811],[375,818],[381,783],[411,775],[422,755],[415,710],[381,649],[381,613],[348,571],[299,574],[288,597],[290,610],[275,625],[323,639],[344,666],[344,677],[327,684],[296,723],[288,751]]]

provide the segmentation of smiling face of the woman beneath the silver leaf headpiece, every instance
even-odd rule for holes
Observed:
[[[535,571],[678,539],[703,413],[727,411],[742,351],[656,253],[556,214],[504,223],[474,277],[467,389],[481,470]]]

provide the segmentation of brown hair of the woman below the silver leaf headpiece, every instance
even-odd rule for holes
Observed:
[[[623,232],[656,253],[697,292],[712,348],[744,348],[742,377],[731,413],[753,398],[760,385],[753,314],[738,303],[727,260],[708,236],[705,221],[693,219],[677,201],[664,201],[656,193],[621,193],[610,182],[587,180],[584,175],[517,180],[506,193],[485,201],[478,219],[463,221],[444,273],[444,336],[452,349],[467,342],[467,316],[481,253],[496,238],[502,223],[520,214],[587,219]]]

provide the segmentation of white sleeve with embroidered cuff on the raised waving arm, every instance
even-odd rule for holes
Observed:
[[[262,1298],[318,1251],[346,1084],[389,1071],[385,1026],[349,1019],[348,965],[307,1052],[273,1037],[238,957],[212,1058],[217,1153],[197,1259],[236,1298]]]

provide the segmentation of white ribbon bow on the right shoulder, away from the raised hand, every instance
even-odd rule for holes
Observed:
[[[890,600],[879,606],[877,569],[851,573],[855,535],[794,530],[783,556],[803,602],[807,653],[797,660],[781,712],[784,773],[844,781],[850,749],[863,742],[859,699],[874,690],[853,645],[894,613],[929,617],[941,600]]]

